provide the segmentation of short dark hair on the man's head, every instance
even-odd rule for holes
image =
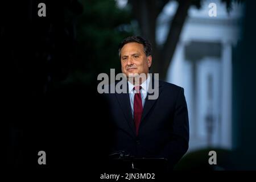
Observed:
[[[127,38],[125,38],[120,44],[119,44],[119,49],[118,49],[118,54],[119,57],[121,56],[121,49],[123,46],[125,46],[125,44],[130,43],[130,42],[137,42],[139,44],[142,44],[144,47],[144,52],[146,54],[146,56],[150,56],[151,55],[151,43],[148,42],[147,40],[143,39],[141,36],[129,36]]]

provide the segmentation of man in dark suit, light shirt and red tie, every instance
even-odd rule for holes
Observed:
[[[183,88],[148,75],[150,52],[151,44],[139,36],[119,46],[122,73],[129,81],[126,93],[107,94],[114,124],[112,152],[166,158],[172,168],[188,150],[187,104]],[[142,74],[146,77],[136,79]],[[149,98],[154,94],[150,88],[158,92],[157,98]]]

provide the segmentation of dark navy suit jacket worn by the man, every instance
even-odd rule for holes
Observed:
[[[154,81],[151,77],[153,88]],[[166,158],[173,167],[188,150],[189,124],[184,89],[159,81],[159,97],[148,100],[148,94],[138,136],[129,93],[106,94],[114,125],[112,151],[124,150],[136,157]]]

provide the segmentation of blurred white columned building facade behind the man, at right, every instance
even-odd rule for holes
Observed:
[[[214,2],[217,16],[209,16]],[[176,11],[171,2],[158,19],[162,44]],[[232,47],[241,38],[242,5],[228,14],[220,1],[204,1],[189,9],[170,64],[167,81],[184,88],[189,112],[189,151],[205,147],[232,149]]]

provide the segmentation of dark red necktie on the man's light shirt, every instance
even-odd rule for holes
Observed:
[[[134,86],[133,88],[136,93],[134,95],[134,103],[133,103],[133,109],[134,109],[134,123],[135,123],[135,129],[136,134],[138,135],[139,132],[139,123],[141,123],[141,116],[142,116],[142,99],[141,99],[141,86]]]

